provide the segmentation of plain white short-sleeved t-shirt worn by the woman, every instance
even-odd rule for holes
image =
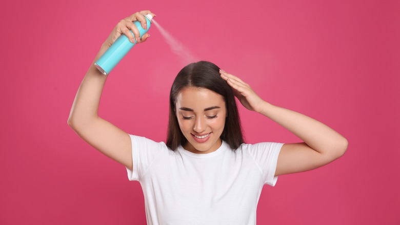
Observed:
[[[179,146],[130,135],[133,172],[141,183],[148,224],[255,224],[264,184],[274,186],[282,143],[223,142],[215,152],[195,154]]]

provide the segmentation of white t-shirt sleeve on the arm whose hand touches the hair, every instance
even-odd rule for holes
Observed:
[[[263,174],[264,183],[275,186],[278,179],[275,175],[276,164],[278,161],[279,152],[283,143],[262,142],[257,144],[249,144],[247,149],[253,157],[258,168]]]

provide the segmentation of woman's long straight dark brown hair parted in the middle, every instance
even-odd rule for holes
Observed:
[[[221,95],[227,111],[221,140],[227,142],[232,149],[236,149],[244,143],[241,121],[232,88],[221,78],[218,66],[210,62],[199,61],[191,63],[179,71],[171,87],[167,133],[167,146],[170,149],[175,150],[179,145],[184,146],[187,143],[175,114],[176,97],[185,87],[206,88]]]

